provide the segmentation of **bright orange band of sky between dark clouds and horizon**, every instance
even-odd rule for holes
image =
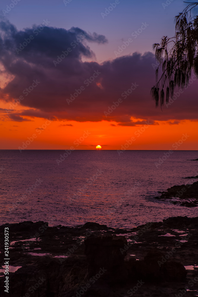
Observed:
[[[1,106],[5,108],[5,104]],[[28,119],[28,117],[26,118]],[[159,125],[150,125],[144,131],[144,125],[124,127],[117,126],[116,122],[109,121],[52,121],[45,125],[45,119],[29,119],[31,121],[16,122],[6,119],[0,121],[2,140],[0,149],[18,149],[23,142],[26,142],[34,134],[34,140],[26,149],[69,149],[70,146],[73,146],[75,149],[92,150],[95,149],[96,145],[101,145],[102,149],[117,150],[121,149],[126,140],[134,137],[135,140],[128,149],[169,150],[172,149],[173,143],[182,138],[183,133],[187,133],[189,137],[178,147],[178,150],[197,150],[198,122],[189,120],[174,125],[159,121]],[[138,132],[138,129],[141,128],[142,131]],[[80,140],[83,134],[85,136],[84,131],[88,132],[88,136],[84,140],[81,138],[82,142],[77,146],[77,139]],[[77,142],[74,143],[74,141]]]

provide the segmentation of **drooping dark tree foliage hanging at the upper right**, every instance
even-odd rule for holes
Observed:
[[[185,2],[189,3],[189,2]],[[156,60],[156,85],[151,89],[151,95],[156,107],[164,105],[173,96],[175,87],[183,89],[188,86],[192,72],[198,77],[198,15],[191,16],[192,9],[198,2],[188,6],[175,17],[174,37],[164,36],[160,43],[153,44]],[[162,75],[159,78],[159,69]]]

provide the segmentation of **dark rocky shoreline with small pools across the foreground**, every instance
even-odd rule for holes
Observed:
[[[10,272],[9,295],[0,272],[2,297],[198,295],[198,217],[172,217],[132,229],[92,222],[4,224],[2,265],[5,228]],[[11,272],[11,266],[20,268]]]

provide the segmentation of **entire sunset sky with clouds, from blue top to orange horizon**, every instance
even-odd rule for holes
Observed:
[[[150,5],[143,2],[144,22],[137,3],[119,5],[119,16],[123,20],[120,31],[118,7],[105,16],[101,13],[106,2],[95,4],[91,11],[96,13],[92,30],[96,35],[87,28],[81,15],[79,23],[78,18],[75,17],[74,22],[70,17],[77,13],[73,2],[63,7],[68,17],[67,26],[60,23],[53,11],[49,11],[49,19],[42,22],[40,33],[32,28],[35,23],[32,18],[15,20],[14,31],[12,20],[5,21],[3,30],[9,32],[15,46],[9,49],[12,67],[5,56],[1,57],[1,149],[18,149],[36,134],[26,149],[68,149],[79,139],[77,150],[94,150],[95,143],[102,143],[103,150],[116,150],[136,136],[127,149],[158,150],[169,149],[183,133],[188,133],[189,138],[178,150],[197,149],[197,79],[192,76],[189,86],[181,92],[176,90],[162,109],[155,108],[151,98],[158,66],[152,44],[165,31],[172,34],[172,26],[165,26],[167,15],[163,7],[162,15],[159,17],[156,13],[157,20],[153,20],[147,13]],[[79,1],[78,4],[85,14],[91,15],[90,7],[86,10]],[[15,9],[19,6],[20,15],[25,8],[19,3]],[[131,12],[126,13],[129,7]],[[166,10],[171,13],[170,18],[178,11],[174,2],[171,7],[171,11]],[[141,21],[133,15],[134,10]],[[126,20],[130,25],[126,25]],[[28,31],[21,29],[25,27]],[[30,34],[34,39],[20,49],[18,38],[23,44]],[[42,66],[39,56],[42,56]],[[21,71],[10,70],[15,63]],[[90,134],[81,141],[84,131]]]

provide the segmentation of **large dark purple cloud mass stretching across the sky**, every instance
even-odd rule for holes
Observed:
[[[107,120],[135,126],[144,123],[133,122],[131,117],[150,120],[152,124],[159,120],[197,119],[197,81],[176,96],[172,104],[164,105],[163,111],[155,108],[150,96],[155,84],[153,53],[134,53],[103,64],[83,62],[83,58],[94,59],[87,43],[105,44],[106,37],[74,27],[70,30],[45,27],[36,35],[36,28],[17,31],[8,21],[0,23],[0,61],[5,72],[14,76],[0,90],[1,98],[11,101],[22,95],[20,104],[29,108],[11,113],[12,120],[30,121],[23,118],[28,116],[79,122]],[[17,53],[16,48],[30,35],[34,39]],[[62,59],[62,52],[68,48],[71,51]],[[34,80],[39,82],[37,86],[28,89],[30,92],[24,91]],[[119,98],[123,102],[114,108],[113,102],[118,105]]]

